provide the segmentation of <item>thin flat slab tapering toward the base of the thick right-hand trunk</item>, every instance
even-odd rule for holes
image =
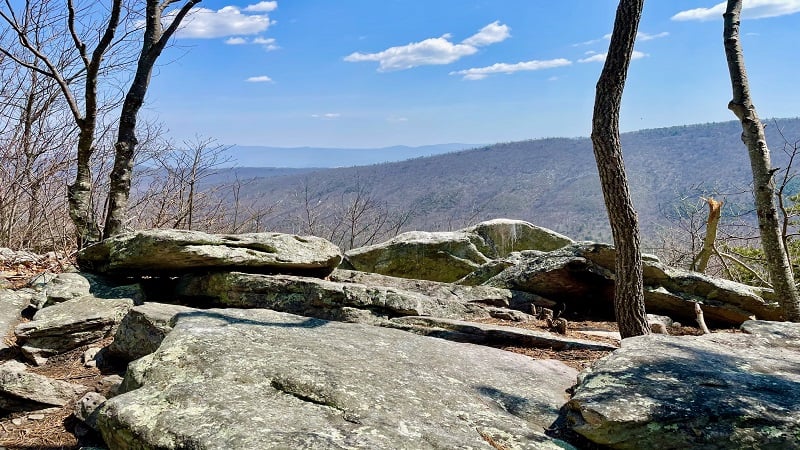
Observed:
[[[555,350],[613,351],[618,348],[602,342],[569,338],[544,331],[463,320],[435,317],[398,317],[392,319],[392,323],[426,336],[484,345],[518,345],[521,347],[552,348]]]

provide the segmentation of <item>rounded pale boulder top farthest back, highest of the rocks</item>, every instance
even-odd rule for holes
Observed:
[[[549,252],[575,242],[555,231],[514,219],[487,220],[461,231],[480,236],[478,250],[493,259],[520,250]]]

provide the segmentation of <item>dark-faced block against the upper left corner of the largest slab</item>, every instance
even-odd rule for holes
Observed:
[[[119,324],[114,342],[108,346],[109,353],[125,361],[153,353],[172,330],[172,318],[189,311],[194,309],[163,303],[134,306]]]

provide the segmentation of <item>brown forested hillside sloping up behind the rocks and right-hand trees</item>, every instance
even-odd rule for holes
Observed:
[[[785,168],[781,134],[791,147],[800,139],[800,119],[770,120],[767,132],[775,166]],[[751,175],[740,133],[739,123],[731,121],[623,134],[646,237],[671,226],[665,216],[681,199],[715,195],[731,208],[747,208],[749,196],[742,192]],[[272,204],[269,226],[286,231],[315,231],[330,215],[347,222],[346,210],[361,208],[360,217],[351,212],[351,222],[446,230],[511,217],[577,239],[610,239],[588,138],[508,142],[398,163],[256,177],[245,190],[245,197]]]

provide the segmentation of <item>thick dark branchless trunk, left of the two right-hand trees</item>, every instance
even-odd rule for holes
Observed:
[[[644,0],[620,0],[606,62],[597,81],[592,144],[617,257],[614,312],[623,338],[650,334],[644,308],[639,221],[628,189],[619,111]]]

